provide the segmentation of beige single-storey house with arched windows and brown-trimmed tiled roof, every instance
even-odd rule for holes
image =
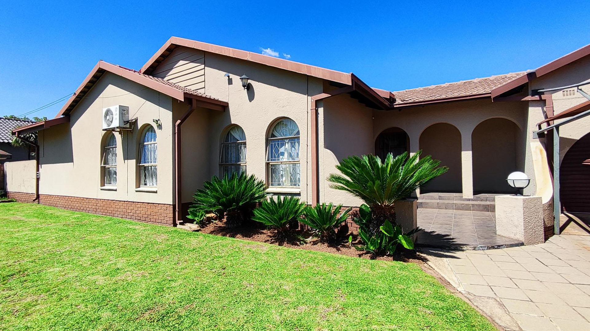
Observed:
[[[543,197],[552,231],[552,134],[534,133],[590,105],[576,87],[536,91],[588,80],[589,55],[590,45],[533,71],[388,91],[352,73],[172,37],[139,71],[99,61],[55,118],[15,130],[39,133],[38,164],[11,167],[12,178],[38,171],[38,188],[14,180],[8,195],[175,225],[203,181],[247,171],[273,194],[359,206],[326,182],[340,160],[422,150],[450,167],[417,192],[422,208],[494,211],[487,194],[514,193],[506,177],[523,171],[524,193]],[[103,130],[104,111],[119,105],[129,127]],[[579,155],[589,124],[560,128],[563,178],[588,180]],[[589,186],[562,184],[565,210],[589,212]]]

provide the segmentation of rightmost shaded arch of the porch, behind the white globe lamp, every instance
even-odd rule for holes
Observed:
[[[519,125],[510,118],[494,116],[481,121],[471,133],[473,191],[513,193],[506,183],[513,171],[525,171],[520,155]]]

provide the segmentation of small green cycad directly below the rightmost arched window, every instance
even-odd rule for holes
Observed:
[[[266,226],[273,227],[277,234],[282,237],[289,230],[289,224],[299,221],[303,215],[306,204],[298,197],[277,196],[263,201],[260,207],[254,210],[253,220]]]

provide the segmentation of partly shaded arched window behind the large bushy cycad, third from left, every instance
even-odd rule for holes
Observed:
[[[232,173],[239,175],[246,171],[246,135],[238,125],[230,128],[221,143],[219,167],[221,176]]]

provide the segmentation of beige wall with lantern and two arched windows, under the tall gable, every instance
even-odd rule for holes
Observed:
[[[248,174],[266,181],[266,138],[271,125],[283,117],[295,121],[301,134],[301,187],[288,191],[311,201],[310,97],[322,92],[322,81],[209,52],[205,53],[205,63],[204,92],[230,105],[224,112],[194,112],[182,126],[183,202],[191,201],[192,192],[201,188],[204,180],[219,175],[222,135],[232,124],[240,125],[246,135]],[[229,79],[224,76],[226,73],[230,74]],[[243,74],[250,77],[250,90],[241,86]],[[182,107],[185,106],[178,106]],[[175,118],[183,112],[175,110]]]

